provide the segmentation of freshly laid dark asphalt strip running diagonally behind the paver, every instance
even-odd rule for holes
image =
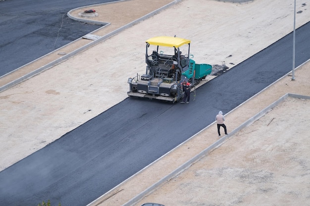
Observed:
[[[309,36],[310,22],[296,31],[296,66],[310,59]],[[290,72],[292,39],[199,87],[190,104],[125,99],[1,171],[0,205],[36,205],[47,197],[63,206],[89,204],[214,122],[218,110],[231,111]]]

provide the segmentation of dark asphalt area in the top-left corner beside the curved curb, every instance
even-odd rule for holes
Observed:
[[[111,1],[0,1],[0,77],[102,27],[69,19],[67,12]]]

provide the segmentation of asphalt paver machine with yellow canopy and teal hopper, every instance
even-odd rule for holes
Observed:
[[[146,72],[129,78],[129,96],[177,102],[183,98],[181,82],[192,86],[212,71],[209,64],[196,64],[190,53],[190,40],[154,37],[146,41]]]

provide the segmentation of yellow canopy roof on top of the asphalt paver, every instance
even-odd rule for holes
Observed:
[[[190,43],[190,40],[178,38],[178,37],[153,37],[146,41],[152,45],[159,45],[159,46],[169,46],[169,47],[180,47],[186,43]]]

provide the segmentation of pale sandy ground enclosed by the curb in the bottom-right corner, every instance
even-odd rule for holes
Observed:
[[[286,99],[135,206],[308,205],[309,108],[310,100]],[[296,115],[302,124],[287,121]]]

